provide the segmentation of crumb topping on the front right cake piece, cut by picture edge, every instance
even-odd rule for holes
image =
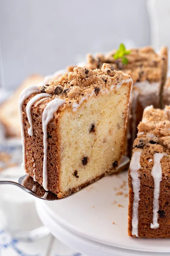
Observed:
[[[147,107],[143,113],[142,122],[139,123],[138,137],[133,148],[144,148],[149,154],[156,152],[170,154],[170,106],[164,110]],[[152,163],[152,160],[148,160]]]

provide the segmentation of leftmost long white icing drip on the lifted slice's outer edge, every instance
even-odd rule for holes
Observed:
[[[25,88],[18,100],[19,104],[19,112],[20,112],[20,123],[21,123],[21,138],[23,143],[23,169],[26,168],[26,159],[25,159],[25,134],[24,134],[24,125],[23,125],[23,103],[24,101],[31,96],[33,93],[40,93],[40,87],[37,85],[31,85],[27,88]]]

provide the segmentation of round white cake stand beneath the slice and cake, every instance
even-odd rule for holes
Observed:
[[[105,177],[70,198],[54,202],[39,200],[37,204],[48,218],[84,239],[103,246],[170,253],[170,239],[127,236],[127,193],[127,172],[122,172]]]

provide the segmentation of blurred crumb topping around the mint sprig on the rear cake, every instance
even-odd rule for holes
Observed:
[[[113,55],[116,50],[104,55],[96,54],[94,57],[91,54],[87,55],[86,68],[101,69],[103,63],[109,63],[113,70],[122,70],[136,81],[148,80],[150,83],[161,80],[162,65],[167,61],[167,48],[162,47],[158,54],[152,47],[143,47],[140,49],[130,49],[130,54],[126,56],[127,64],[123,64],[121,59],[115,60]]]

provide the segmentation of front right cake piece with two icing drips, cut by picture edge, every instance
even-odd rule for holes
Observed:
[[[170,107],[145,108],[129,169],[129,236],[170,237]]]

